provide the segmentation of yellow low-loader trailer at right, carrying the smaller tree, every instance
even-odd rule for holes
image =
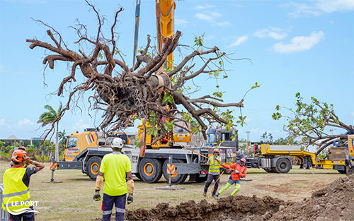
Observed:
[[[246,157],[247,167],[263,168],[266,172],[287,173],[292,168],[290,156],[300,159],[301,168],[336,169],[341,174],[354,173],[354,135],[348,135],[345,143],[334,142],[326,159],[318,160],[314,153],[304,150],[274,150],[275,146],[256,145],[261,157]]]

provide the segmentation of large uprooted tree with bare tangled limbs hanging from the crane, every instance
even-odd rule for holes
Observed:
[[[204,47],[200,37],[195,38],[193,47],[180,45],[179,31],[173,37],[166,38],[161,52],[156,52],[156,47],[150,45],[148,35],[147,45],[136,56],[135,66],[129,67],[118,49],[118,34],[115,32],[118,14],[122,8],[115,12],[107,38],[103,35],[103,26],[107,20],[100,16],[95,6],[88,1],[86,3],[97,17],[98,30],[96,36],[90,37],[86,25],[79,20],[76,25],[71,26],[79,37],[75,42],[78,45],[78,52],[69,49],[62,35],[41,20],[35,21],[49,28],[47,36],[54,44],[36,39],[26,40],[31,43],[30,49],[41,47],[50,52],[43,60],[46,67],[55,68],[56,61],[67,62],[71,67],[69,76],[62,79],[57,90],[58,96],[68,91],[68,100],[57,118],[52,121],[52,129],[55,122],[62,119],[64,112],[76,106],[79,97],[89,91],[93,91],[88,98],[89,109],[103,112],[98,128],[105,132],[125,129],[135,119],[143,118],[148,119],[150,124],[158,125],[164,132],[171,131],[171,125],[178,122],[183,123],[179,125],[194,124],[206,139],[207,124],[217,122],[228,128],[236,124],[232,111],[224,110],[224,107],[241,108],[244,97],[239,102],[224,103],[223,91],[218,85],[217,91],[212,95],[189,97],[195,88],[190,88],[188,83],[192,82],[190,85],[193,85],[193,79],[198,76],[205,75],[216,80],[227,78],[224,61],[229,61],[229,56],[226,53],[220,52],[217,47]],[[83,45],[88,45],[87,49],[84,50]],[[176,48],[179,51],[187,49],[189,52],[180,64],[166,68],[166,58]],[[200,67],[196,68],[198,64]],[[84,82],[71,87],[71,83],[76,82],[76,79],[79,79],[77,76],[81,74],[84,76]],[[257,87],[256,83],[251,89]],[[181,107],[184,107],[184,111]],[[170,120],[162,121],[162,117]],[[239,116],[237,122],[243,124],[244,119],[245,117]]]

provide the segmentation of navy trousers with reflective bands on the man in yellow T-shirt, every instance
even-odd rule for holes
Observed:
[[[103,201],[102,201],[103,221],[110,221],[110,215],[112,215],[113,204],[115,205],[115,220],[116,221],[124,220],[126,196],[127,194],[121,196],[109,196],[103,193]]]

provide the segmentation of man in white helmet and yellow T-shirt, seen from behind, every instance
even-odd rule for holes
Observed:
[[[122,139],[114,138],[111,147],[113,148],[113,153],[105,155],[102,159],[100,172],[96,179],[96,193],[93,196],[93,200],[101,200],[100,190],[104,180],[103,221],[110,220],[113,204],[115,205],[115,220],[124,220],[125,201],[128,204],[133,201],[134,181],[132,179],[132,169],[129,157],[121,153],[123,147]]]

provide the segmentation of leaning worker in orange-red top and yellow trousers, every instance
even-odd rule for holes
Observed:
[[[235,189],[234,191],[232,191],[231,196],[235,196],[236,193],[239,192],[239,190],[241,189],[241,182],[240,182],[240,178],[241,177],[246,177],[246,172],[247,172],[247,168],[244,166],[244,164],[246,163],[246,159],[242,158],[240,160],[240,163],[234,163],[233,165],[222,165],[222,167],[227,168],[227,169],[232,169],[232,173],[231,176],[229,178],[229,181],[227,181],[227,184],[222,187],[222,189],[219,190],[219,192],[217,192],[217,197],[219,197],[219,195],[226,191],[227,189],[229,189],[230,186],[232,186],[232,184],[235,184]]]

